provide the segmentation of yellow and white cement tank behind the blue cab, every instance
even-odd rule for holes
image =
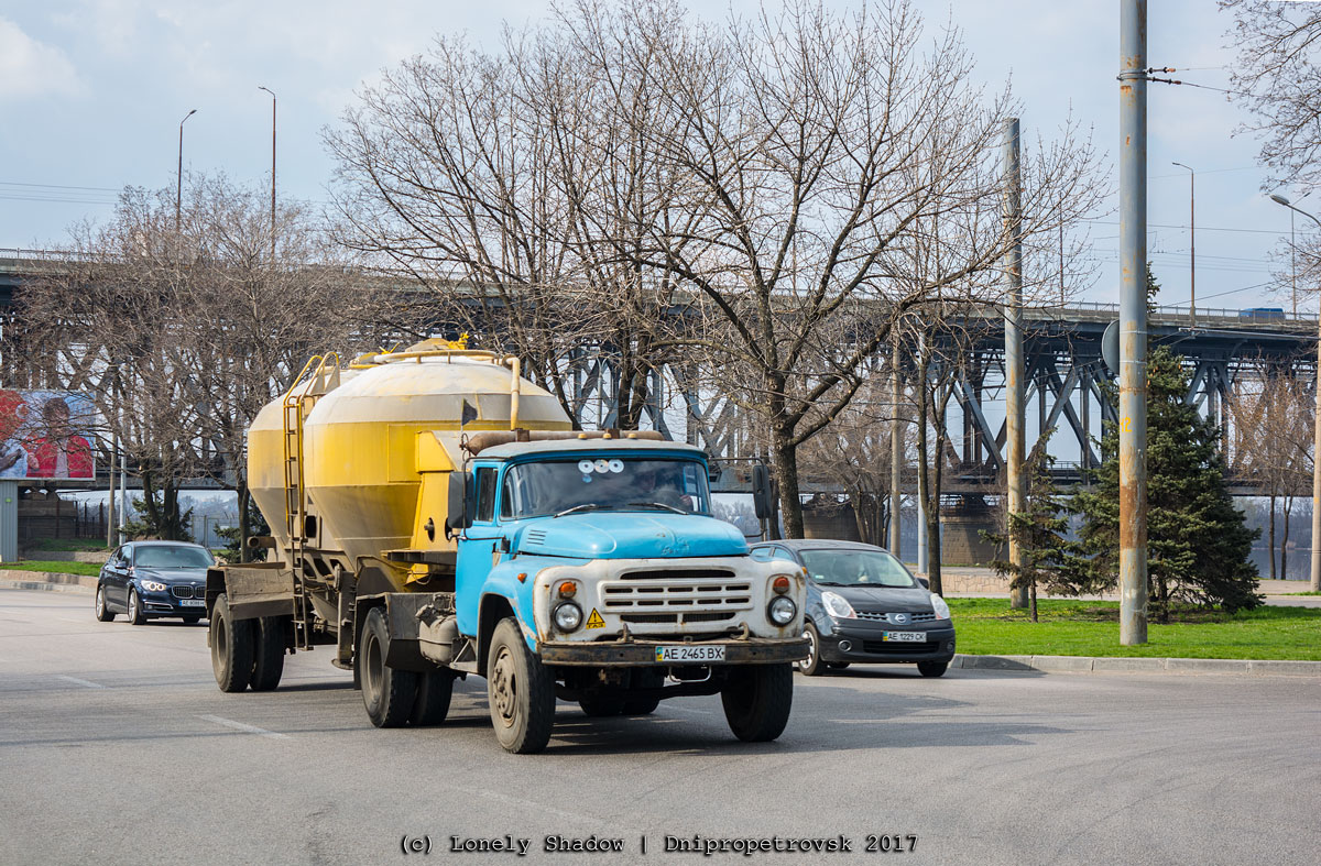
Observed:
[[[256,416],[248,483],[281,560],[328,576],[378,566],[404,589],[453,556],[444,520],[460,438],[514,426],[572,429],[515,358],[436,339],[343,368],[328,355]]]

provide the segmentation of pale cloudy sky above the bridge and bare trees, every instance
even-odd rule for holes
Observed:
[[[1119,0],[915,4],[964,30],[988,87],[1012,75],[1025,143],[1049,137],[1071,110],[1099,150],[1118,153]],[[692,8],[711,16],[728,7]],[[436,33],[493,45],[502,22],[536,26],[547,11],[538,0],[0,0],[0,247],[58,244],[71,223],[107,216],[125,185],[173,186],[178,123],[192,108],[185,170],[268,182],[271,98],[259,84],[279,96],[280,194],[324,201],[332,162],[321,129],[363,82],[425,51]],[[1226,30],[1213,0],[1152,3],[1148,59],[1177,67],[1174,78],[1226,87]],[[1189,297],[1189,183],[1170,165],[1178,160],[1198,172],[1198,305],[1288,309],[1287,294],[1262,284],[1280,267],[1271,255],[1289,213],[1260,190],[1256,143],[1232,135],[1240,114],[1221,92],[1149,88],[1149,248],[1161,302]],[[1091,227],[1091,300],[1118,300],[1116,234],[1114,213]]]

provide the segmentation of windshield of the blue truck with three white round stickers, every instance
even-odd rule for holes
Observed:
[[[711,514],[707,469],[692,459],[581,458],[519,463],[505,475],[503,517],[565,511]]]

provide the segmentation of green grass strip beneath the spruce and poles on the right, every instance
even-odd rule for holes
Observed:
[[[1148,643],[1119,646],[1119,602],[1042,599],[1041,622],[1004,598],[951,598],[959,652],[996,656],[1152,656],[1321,660],[1321,610],[1258,607],[1232,616],[1189,610],[1151,623]]]

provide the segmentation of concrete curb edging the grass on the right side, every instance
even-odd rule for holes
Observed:
[[[1120,659],[1095,656],[966,656],[956,655],[951,668],[963,671],[1016,671],[1032,673],[1221,673],[1231,676],[1321,677],[1321,661],[1264,659]]]

